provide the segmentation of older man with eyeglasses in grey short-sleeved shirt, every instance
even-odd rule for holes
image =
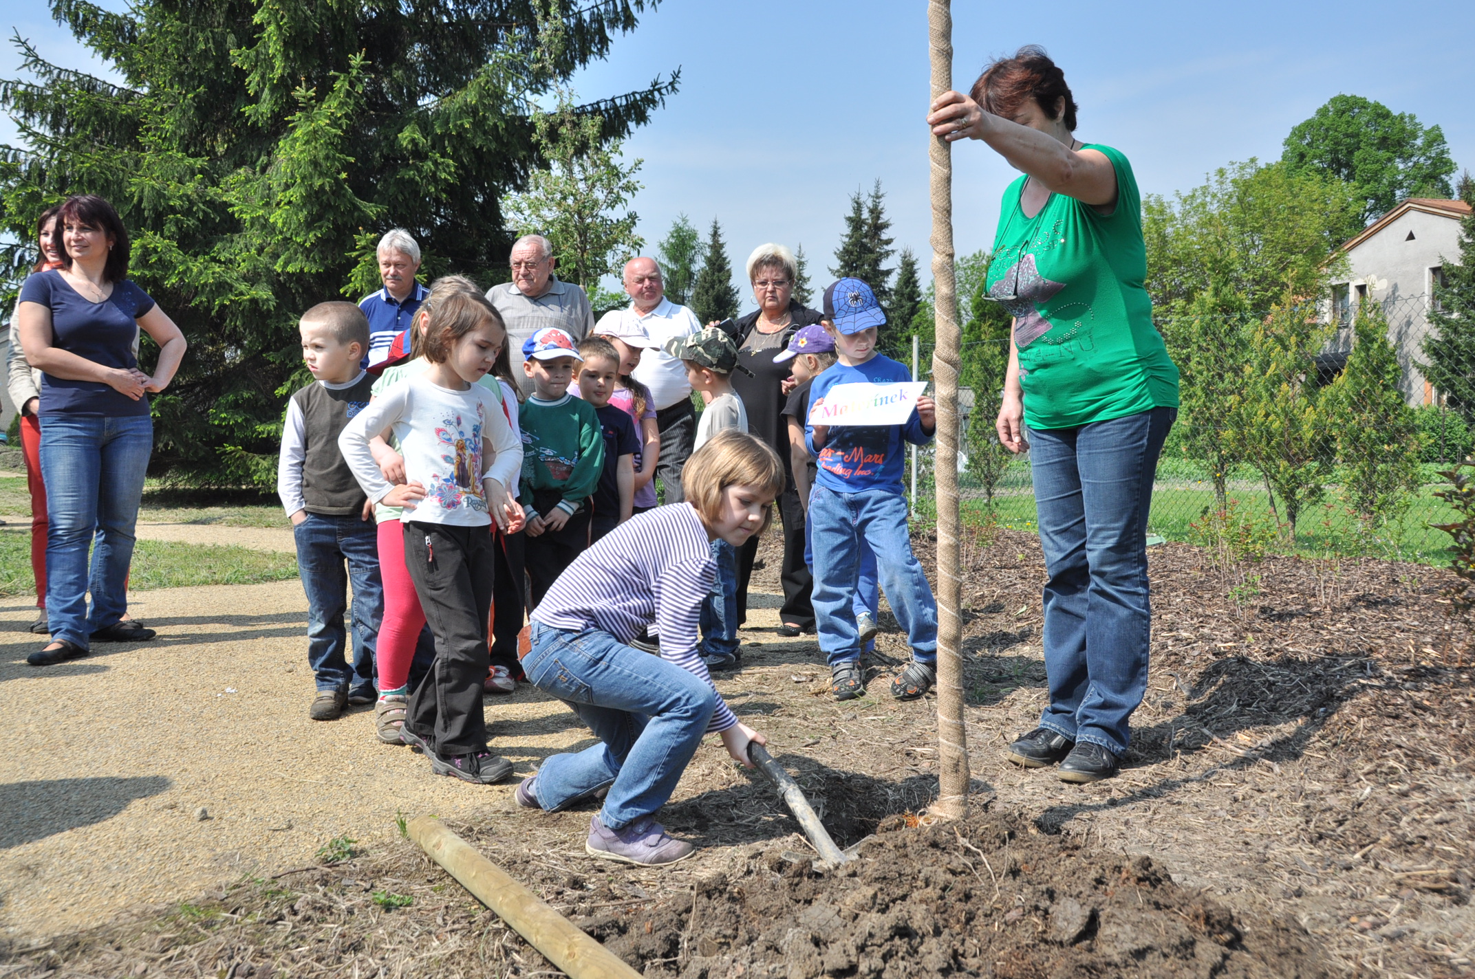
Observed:
[[[512,282],[487,290],[487,301],[507,326],[507,357],[512,376],[524,395],[532,394],[532,379],[522,370],[522,344],[541,329],[556,327],[577,345],[594,329],[594,310],[584,290],[553,274],[553,246],[541,234],[524,234],[512,245]]]

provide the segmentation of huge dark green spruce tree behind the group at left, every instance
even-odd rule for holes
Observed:
[[[645,0],[282,4],[52,0],[112,84],[19,41],[0,83],[21,147],[0,153],[10,298],[38,212],[108,198],[131,277],[190,341],[152,398],[153,463],[180,482],[271,485],[285,400],[305,379],[296,320],[379,285],[375,245],[406,227],[422,279],[506,277],[499,202],[546,165],[537,99],[633,31]],[[546,44],[549,34],[556,44]],[[580,106],[600,140],[650,118],[676,77]],[[145,367],[152,363],[145,342]]]

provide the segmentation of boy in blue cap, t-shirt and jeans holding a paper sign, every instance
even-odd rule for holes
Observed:
[[[811,410],[836,385],[912,380],[906,367],[876,352],[876,327],[885,321],[876,295],[860,279],[841,279],[825,290],[825,329],[839,363],[810,386]],[[912,553],[901,488],[906,444],[922,445],[935,431],[937,408],[925,397],[906,425],[805,425],[808,450],[819,457],[808,512],[814,615],[836,700],[864,693],[851,607],[861,540],[876,554],[881,587],[912,646],[912,662],[891,681],[891,696],[914,700],[937,680],[937,602]]]

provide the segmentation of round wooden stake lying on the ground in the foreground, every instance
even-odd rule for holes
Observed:
[[[435,817],[420,815],[406,827],[416,843],[478,901],[497,913],[569,979],[639,979],[624,960],[578,930],[506,870],[478,854]]]

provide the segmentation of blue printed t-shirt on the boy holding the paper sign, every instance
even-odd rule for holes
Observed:
[[[912,380],[912,372],[882,354],[857,367],[833,364],[810,385],[810,407],[835,385],[885,385],[903,380]],[[819,456],[816,484],[835,492],[903,492],[906,444],[925,445],[929,441],[932,436],[922,431],[922,419],[916,411],[912,411],[906,425],[832,425],[829,439],[819,453],[814,451],[814,426],[807,420],[804,425],[804,442],[810,454]]]

